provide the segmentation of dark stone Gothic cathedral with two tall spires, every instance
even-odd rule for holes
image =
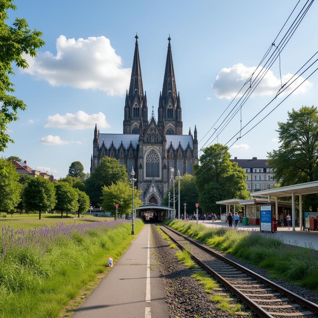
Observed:
[[[161,204],[172,185],[171,176],[192,174],[198,162],[197,128],[183,135],[181,102],[176,90],[170,36],[158,117],[152,110],[148,118],[147,96],[143,91],[138,36],[135,36],[134,61],[129,90],[126,92],[123,134],[102,134],[95,125],[91,173],[104,156],[125,164],[128,175],[135,171],[137,189],[144,204]],[[174,168],[174,169],[171,169]],[[131,177],[131,176],[129,176]]]

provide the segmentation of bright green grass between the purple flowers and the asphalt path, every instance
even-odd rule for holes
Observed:
[[[26,222],[25,228],[29,226]],[[136,220],[136,233],[142,227],[142,221]],[[0,317],[56,318],[74,299],[76,307],[77,298],[85,298],[83,288],[110,270],[108,257],[116,262],[130,245],[135,238],[130,232],[131,224],[122,223],[86,235],[74,232],[71,239],[62,236],[45,252],[24,247],[8,251],[0,261]]]

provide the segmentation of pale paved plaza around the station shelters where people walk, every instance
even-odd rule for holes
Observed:
[[[195,222],[195,221],[190,221]],[[202,220],[199,220],[199,223],[203,224]],[[212,222],[212,221],[204,221],[205,226],[211,226],[211,227],[218,227],[218,226],[229,226],[227,222]],[[234,225],[233,225],[234,228]],[[239,229],[240,230],[246,230],[246,231],[259,231],[259,225],[242,225],[242,223],[239,223]],[[291,245],[298,245],[298,246],[312,246],[316,250],[318,250],[318,231],[300,231],[299,226],[296,227],[296,231],[292,231],[292,227],[290,227],[290,230],[288,230],[288,226],[284,226],[281,228],[278,226],[277,233],[273,233],[273,235],[282,236],[285,239],[285,243],[291,244]]]

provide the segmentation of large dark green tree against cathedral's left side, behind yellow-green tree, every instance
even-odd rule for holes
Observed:
[[[103,157],[85,181],[85,192],[89,195],[92,205],[100,204],[103,186],[110,186],[118,181],[129,182],[125,165],[119,164],[115,158]]]

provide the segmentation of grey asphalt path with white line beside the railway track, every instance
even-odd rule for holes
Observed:
[[[169,317],[160,267],[153,252],[150,225],[146,224],[72,318]]]

